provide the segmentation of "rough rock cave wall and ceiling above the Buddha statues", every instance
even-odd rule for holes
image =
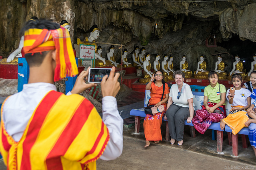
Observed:
[[[96,42],[123,44],[128,51],[133,50],[134,45],[143,46],[152,56],[156,53],[160,56],[172,54],[174,69],[182,55],[186,55],[190,70],[196,70],[197,57],[203,51],[209,63],[207,69],[212,70],[216,61],[212,55],[229,52],[229,49],[205,47],[206,38],[214,34],[219,43],[237,34],[241,40],[256,42],[255,9],[255,0],[160,0],[157,3],[146,0],[2,0],[0,55],[8,57],[18,47],[20,28],[31,16],[37,16],[57,23],[61,20],[70,22],[73,43],[76,43],[76,38],[84,40],[89,35],[89,28],[96,24],[100,29]],[[104,49],[102,56],[106,57],[108,45],[101,46]],[[115,56],[120,62],[120,49],[116,50]],[[132,61],[131,58],[132,54],[129,54],[128,62]],[[229,61],[232,57],[226,55],[226,58],[224,56],[225,63],[231,67],[232,62]],[[162,60],[163,57],[160,58]],[[150,61],[154,61],[154,57]]]

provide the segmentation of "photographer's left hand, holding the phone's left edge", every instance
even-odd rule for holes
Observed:
[[[86,71],[82,71],[79,76],[76,79],[75,85],[73,87],[73,89],[71,90],[72,94],[80,94],[82,93],[84,90],[93,87],[93,86],[97,86],[97,84],[95,83],[86,83],[84,78],[86,78],[86,80],[88,80],[88,73],[89,73],[89,68],[87,68]]]

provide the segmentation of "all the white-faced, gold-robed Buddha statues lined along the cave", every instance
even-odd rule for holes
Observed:
[[[32,17],[30,20],[38,20],[37,17]],[[60,22],[60,25],[68,31],[70,31],[70,23],[66,20],[62,20]],[[102,47],[100,45],[97,46],[95,42],[95,39],[98,39],[100,36],[100,29],[97,25],[93,25],[90,28],[90,36],[85,38],[84,42],[81,42],[80,39],[77,39],[77,44],[74,46],[79,46],[80,44],[86,44],[86,45],[95,45],[95,66],[96,67],[107,67],[107,66],[116,66],[121,67],[120,63],[117,63],[115,60],[115,47],[114,45],[111,45],[109,48],[109,52],[107,53],[107,60],[102,57]],[[8,59],[3,59],[1,64],[5,63],[18,63],[18,59],[16,57],[21,57],[21,49],[23,47],[24,43],[24,36],[20,40],[19,48],[16,49],[9,57]],[[142,47],[141,49],[138,46],[135,46],[134,52],[132,53],[132,61],[133,63],[128,63],[127,59],[128,51],[127,49],[123,50],[122,53],[122,67],[135,67],[136,69],[142,69],[143,70],[143,76],[140,78],[139,82],[146,83],[150,81],[150,78],[152,77],[153,72],[156,72],[157,70],[162,70],[164,73],[165,81],[171,81],[173,80],[173,56],[170,55],[164,55],[164,60],[159,62],[160,55],[156,55],[155,60],[153,62],[153,65],[150,63],[150,57],[151,55],[149,53],[146,53],[146,49]],[[219,75],[219,79],[229,79],[231,78],[232,74],[238,73],[241,74],[242,78],[245,78],[245,76],[250,76],[250,73],[253,70],[256,70],[256,55],[253,56],[254,61],[251,63],[251,69],[246,74],[244,70],[243,63],[240,61],[240,58],[238,55],[235,56],[235,61],[233,63],[233,68],[230,73],[226,73],[225,69],[225,63],[222,61],[222,57],[218,56],[218,61],[215,63],[215,71]],[[183,55],[182,60],[180,61],[180,70],[182,70],[185,74],[185,78],[192,78],[192,71],[188,69],[188,62],[186,61],[186,56]],[[206,70],[207,64],[206,61],[204,61],[204,55],[200,56],[200,60],[197,63],[197,69],[194,71],[194,78],[197,79],[208,79],[208,71]],[[151,72],[151,69],[153,69],[153,72]]]

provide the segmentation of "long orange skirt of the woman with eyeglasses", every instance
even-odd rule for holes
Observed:
[[[161,125],[164,114],[165,111],[155,115],[146,114],[143,123],[146,141],[162,141]]]

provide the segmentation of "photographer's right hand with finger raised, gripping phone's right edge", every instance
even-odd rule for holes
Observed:
[[[116,97],[117,93],[120,90],[120,83],[118,82],[118,78],[120,76],[119,73],[115,74],[116,68],[113,66],[110,71],[109,77],[105,75],[101,81],[101,92],[102,97],[105,96],[113,96]]]

